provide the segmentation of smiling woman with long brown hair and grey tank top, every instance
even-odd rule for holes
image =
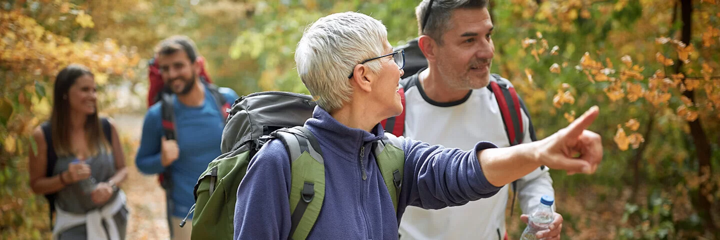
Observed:
[[[53,113],[32,134],[30,187],[57,214],[53,239],[125,239],[128,211],[117,188],[126,175],[117,130],[98,117],[93,74],[63,68],[55,79]]]

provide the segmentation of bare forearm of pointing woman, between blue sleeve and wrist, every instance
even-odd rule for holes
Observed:
[[[541,165],[535,146],[536,142],[479,151],[482,173],[490,184],[501,187],[533,172]]]

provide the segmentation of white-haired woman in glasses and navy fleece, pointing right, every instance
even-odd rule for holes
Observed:
[[[396,91],[405,61],[402,51],[392,50],[382,22],[365,14],[318,19],[298,43],[295,62],[300,79],[318,100],[303,127],[322,150],[322,210],[307,208],[317,219],[297,234],[293,218],[305,215],[290,211],[292,204],[302,202],[289,200],[298,184],[291,181],[297,170],[291,171],[291,163],[296,162],[282,141],[271,139],[252,157],[238,187],[234,239],[397,239],[409,205],[440,209],[491,197],[500,190],[495,186],[541,165],[591,174],[603,157],[600,135],[585,130],[598,116],[598,107],[548,138],[509,148],[474,141],[472,149],[462,151],[385,135],[380,121],[402,112]],[[397,140],[385,149],[397,149],[400,153],[393,156],[402,158],[402,176],[393,179],[400,189],[397,197],[379,172],[379,164],[389,161],[376,161],[388,159],[385,151],[378,156],[371,151],[381,139]],[[580,157],[570,155],[576,152]],[[312,201],[302,192],[302,200]]]

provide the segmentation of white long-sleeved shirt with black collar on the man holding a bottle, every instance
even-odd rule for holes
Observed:
[[[474,89],[457,102],[434,102],[426,96],[417,76],[405,79],[409,81],[405,89],[405,136],[463,150],[471,149],[478,141],[490,141],[498,147],[510,146],[498,102],[489,89]],[[531,139],[525,112],[522,119],[523,142],[528,143]],[[539,204],[542,195],[554,195],[546,169],[536,169],[523,177],[539,177],[544,185],[518,195],[518,199],[527,196],[525,201],[521,200],[523,212],[530,205]],[[518,182],[518,189],[522,190],[520,184]],[[400,223],[401,239],[503,239],[508,191],[509,185],[506,185],[490,198],[439,210],[408,207]],[[535,200],[531,202],[531,199]]]

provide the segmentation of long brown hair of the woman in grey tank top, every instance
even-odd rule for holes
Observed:
[[[71,112],[68,92],[76,80],[85,75],[94,76],[85,66],[71,64],[63,68],[55,79],[53,113],[50,117],[50,126],[53,134],[53,147],[58,156],[71,156],[73,154],[73,148],[70,143],[69,127]],[[107,151],[112,150],[110,143],[108,143],[102,131],[102,124],[98,117],[97,107],[95,107],[93,114],[87,116],[84,128],[85,139],[92,156],[98,154],[101,146],[107,149]]]

